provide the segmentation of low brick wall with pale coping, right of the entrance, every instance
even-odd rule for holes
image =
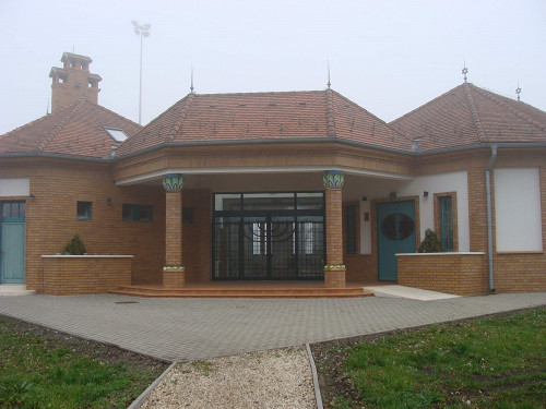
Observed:
[[[458,296],[488,292],[485,253],[396,254],[399,285]]]

